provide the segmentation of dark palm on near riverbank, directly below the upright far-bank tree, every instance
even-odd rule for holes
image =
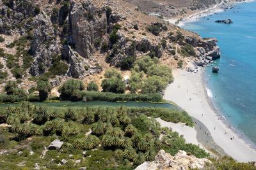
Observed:
[[[33,122],[38,125],[45,124],[49,119],[49,113],[47,112],[46,108],[40,106],[39,108],[35,108],[34,110],[34,120]]]

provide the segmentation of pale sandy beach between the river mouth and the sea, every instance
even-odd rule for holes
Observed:
[[[216,113],[207,100],[202,74],[203,68],[200,68],[197,74],[185,70],[173,71],[175,80],[165,90],[164,99],[173,101],[186,110],[191,117],[196,118],[205,125],[207,132],[200,133],[199,137],[202,138],[209,132],[214,142],[237,161],[255,161],[256,150],[251,148],[244,139],[241,139],[239,134],[227,127],[221,120],[220,114]],[[172,124],[170,124],[170,127],[172,127]],[[174,127],[172,128],[175,130]],[[191,138],[189,139],[191,143],[198,143],[198,135],[197,139],[195,139],[194,131],[184,132],[182,127],[176,127],[176,131],[183,134],[185,139]],[[199,128],[199,131],[205,131],[205,129]],[[230,138],[233,137],[234,139],[231,140]]]

